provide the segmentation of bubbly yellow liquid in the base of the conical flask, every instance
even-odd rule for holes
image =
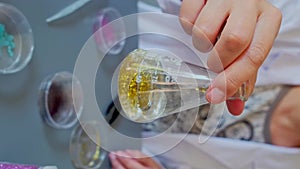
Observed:
[[[163,104],[157,103],[164,99],[163,95],[155,92],[155,82],[162,80],[163,73],[158,62],[145,58],[145,55],[143,50],[130,53],[120,68],[119,99],[124,112],[131,119],[155,116],[163,108]],[[143,63],[147,66],[143,66]]]

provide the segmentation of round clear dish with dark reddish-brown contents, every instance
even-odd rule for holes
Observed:
[[[71,128],[83,109],[80,82],[69,72],[48,76],[40,85],[38,106],[44,122],[49,126]]]

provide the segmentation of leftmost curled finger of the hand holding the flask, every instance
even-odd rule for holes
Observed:
[[[180,8],[180,22],[183,29],[192,34],[193,25],[205,4],[205,0],[185,0],[181,4]]]

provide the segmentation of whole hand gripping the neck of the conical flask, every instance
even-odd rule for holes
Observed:
[[[281,12],[267,0],[183,0],[181,24],[198,50],[210,51],[208,66],[219,73],[206,95],[211,103],[225,101],[246,81],[248,94],[252,93],[281,18]],[[239,115],[244,103],[229,101],[227,106]]]

